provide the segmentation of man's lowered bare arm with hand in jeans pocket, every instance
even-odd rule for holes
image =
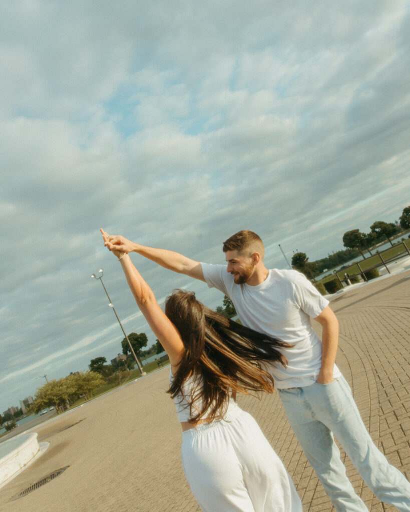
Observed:
[[[333,367],[339,340],[339,322],[329,306],[326,306],[315,320],[322,326],[322,366],[316,382],[326,384],[333,381]]]

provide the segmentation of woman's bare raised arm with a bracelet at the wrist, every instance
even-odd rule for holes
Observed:
[[[109,235],[103,229],[101,229],[101,233],[103,233],[104,242],[106,242]],[[118,250],[117,246],[110,250],[119,257],[119,262],[122,270],[124,270],[128,286],[135,297],[138,308],[169,355],[171,366],[177,367],[185,350],[178,330],[159,307],[153,291],[135,268],[129,255]]]

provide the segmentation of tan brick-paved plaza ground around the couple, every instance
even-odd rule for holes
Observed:
[[[351,383],[362,417],[387,458],[410,477],[410,271],[332,298],[340,322],[337,364]],[[165,368],[39,426],[46,453],[0,489],[3,512],[194,512],[182,473],[180,428],[165,393]],[[239,397],[255,416],[296,484],[306,512],[332,505],[306,462],[277,394]],[[350,460],[347,474],[371,512],[381,504]],[[14,495],[61,467],[31,494]]]

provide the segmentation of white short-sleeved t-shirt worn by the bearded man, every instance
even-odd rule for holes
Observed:
[[[231,298],[243,325],[294,345],[281,349],[288,366],[267,365],[277,389],[310,386],[319,376],[322,342],[311,325],[329,304],[303,274],[296,270],[269,270],[257,286],[238,285],[226,265],[201,263],[210,288]],[[340,377],[335,365],[333,377]]]

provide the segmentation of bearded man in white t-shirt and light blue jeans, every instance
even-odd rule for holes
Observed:
[[[228,295],[241,322],[294,347],[283,350],[288,367],[270,366],[286,415],[337,512],[364,512],[346,477],[333,433],[379,500],[410,512],[410,484],[377,449],[350,388],[335,365],[338,322],[329,302],[295,270],[269,270],[262,240],[243,230],[223,243],[227,266],[209,265],[177,252],[109,237],[108,247],[135,251],[159,265],[208,283]],[[322,326],[322,339],[310,318]]]

